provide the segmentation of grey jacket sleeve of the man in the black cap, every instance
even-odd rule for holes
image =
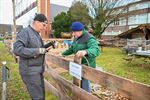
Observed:
[[[17,56],[24,58],[31,58],[39,55],[38,48],[28,48],[28,33],[25,30],[22,30],[17,34],[16,42],[13,44],[14,50],[13,53]]]

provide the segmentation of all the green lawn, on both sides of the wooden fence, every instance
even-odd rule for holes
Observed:
[[[7,99],[29,100],[29,95],[18,72],[18,64],[14,62],[12,55],[8,53],[3,43],[0,43],[0,55],[0,62],[7,61],[7,66],[10,68],[10,79],[7,82]],[[139,61],[135,61],[135,63],[128,64],[123,60],[126,56],[119,48],[105,47],[104,51],[97,57],[97,66],[101,66],[110,73],[150,85],[150,63],[146,63],[146,66],[141,66],[143,61],[140,59]],[[2,66],[1,63],[0,66]],[[65,75],[62,76],[68,77]],[[0,85],[2,86],[1,77]],[[46,100],[57,99],[51,93],[46,92]]]

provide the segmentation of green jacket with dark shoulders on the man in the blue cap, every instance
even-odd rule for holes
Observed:
[[[90,67],[96,67],[96,57],[99,55],[100,50],[95,37],[89,34],[87,31],[83,31],[82,35],[75,39],[71,47],[62,53],[63,56],[76,54],[79,50],[86,50],[87,55],[85,56],[90,65],[88,65],[87,60],[82,58],[82,64],[88,65]]]

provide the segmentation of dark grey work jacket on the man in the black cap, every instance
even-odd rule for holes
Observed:
[[[39,53],[43,42],[38,32],[31,26],[22,29],[14,43],[14,54],[19,56],[20,74],[36,74],[44,71],[44,55]]]

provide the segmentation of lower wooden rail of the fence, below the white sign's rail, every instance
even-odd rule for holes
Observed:
[[[46,61],[47,63],[47,61]],[[71,82],[65,80],[62,78],[59,74],[57,74],[53,69],[48,67],[47,64],[45,64],[46,67],[46,73],[50,77],[52,77],[60,88],[59,91],[65,92],[67,95],[68,93],[72,93],[69,95],[73,100],[99,100],[96,96],[93,96],[92,94],[84,91],[83,89],[79,88],[78,86],[72,84]]]

